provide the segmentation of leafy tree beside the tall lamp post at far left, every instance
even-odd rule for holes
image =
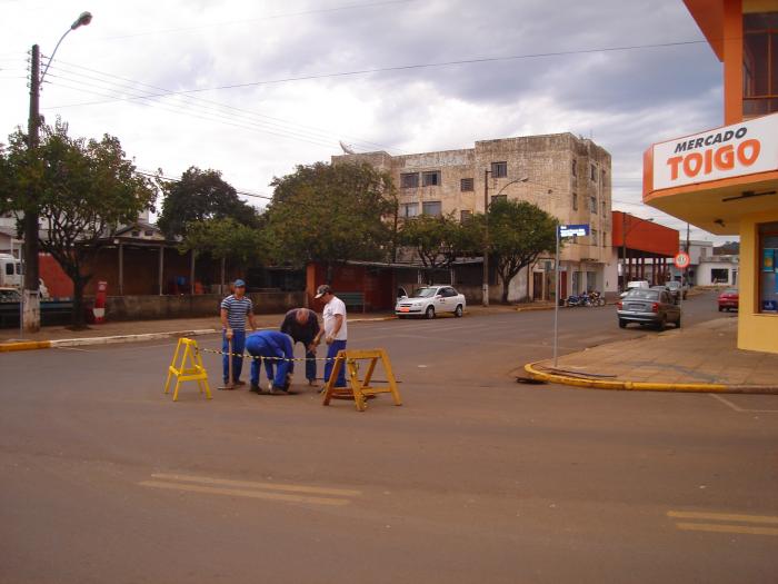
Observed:
[[[156,190],[136,172],[118,138],[70,138],[60,120],[42,128],[36,152],[28,149],[21,131],[12,135],[3,166],[7,209],[23,210],[28,189],[37,192],[38,211],[48,224],[40,249],[51,254],[73,281],[73,326],[82,327],[83,289],[92,278],[86,269],[100,239],[137,220],[152,206]]]

